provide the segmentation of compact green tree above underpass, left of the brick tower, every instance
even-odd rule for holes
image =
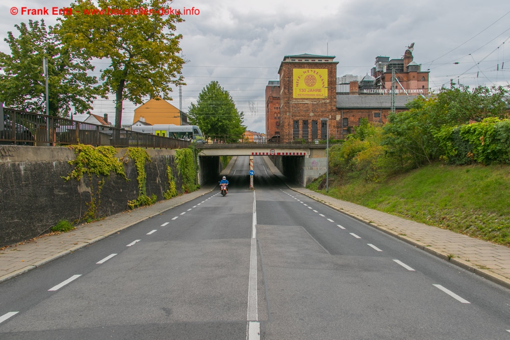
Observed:
[[[188,109],[188,120],[198,125],[203,134],[236,142],[246,132],[244,114],[237,111],[234,99],[218,82],[212,81],[202,89],[198,100]]]

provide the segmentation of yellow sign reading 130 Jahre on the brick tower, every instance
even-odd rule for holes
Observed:
[[[327,69],[295,68],[293,69],[294,98],[326,98]]]

